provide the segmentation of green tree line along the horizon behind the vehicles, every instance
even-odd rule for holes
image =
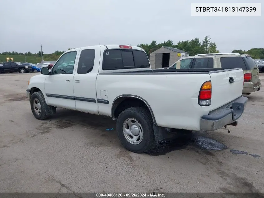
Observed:
[[[130,45],[130,44],[129,44]],[[177,48],[180,50],[183,50],[187,53],[190,54],[190,56],[194,56],[196,54],[201,54],[201,53],[220,53],[219,50],[217,50],[217,44],[214,42],[211,42],[211,38],[209,36],[205,36],[202,41],[200,41],[199,38],[194,38],[191,40],[186,40],[186,41],[179,41],[177,44],[174,44],[172,40],[167,40],[162,43],[157,43],[157,41],[152,41],[150,44],[142,43],[137,45],[138,47],[143,48],[148,57],[149,54],[156,51],[157,49],[161,48],[162,46],[164,47],[172,47],[172,48]],[[68,48],[68,50],[73,49],[73,48]],[[50,61],[56,61],[62,53],[65,51],[55,51],[54,53],[50,54],[45,54],[42,51],[42,56],[44,60],[50,60]],[[252,48],[248,51],[245,50],[233,50],[234,52],[238,53],[246,53],[252,56],[254,59],[264,59],[264,48]],[[25,52],[25,53],[18,53],[18,52],[3,52],[0,53],[2,55],[21,55],[21,56],[35,56],[35,57],[41,57],[41,51],[38,51],[37,53],[31,53],[31,52]]]

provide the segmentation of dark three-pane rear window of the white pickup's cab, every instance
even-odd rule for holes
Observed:
[[[102,69],[150,67],[147,54],[139,50],[109,49],[104,52]]]

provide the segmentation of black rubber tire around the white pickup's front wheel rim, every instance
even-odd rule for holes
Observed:
[[[37,114],[34,110],[33,107],[33,103],[34,103],[34,99],[38,99],[40,106],[41,106],[41,112],[40,114]],[[49,117],[49,115],[46,114],[46,101],[45,98],[42,94],[42,92],[38,91],[38,92],[34,92],[31,97],[30,97],[30,106],[31,106],[31,111],[33,113],[33,115],[35,116],[35,118],[39,119],[39,120],[43,120],[43,119],[47,119]]]

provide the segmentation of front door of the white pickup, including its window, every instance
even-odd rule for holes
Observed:
[[[78,51],[64,53],[51,69],[45,80],[45,92],[48,104],[67,109],[75,108],[73,94],[73,76]],[[73,61],[73,62],[72,62]]]

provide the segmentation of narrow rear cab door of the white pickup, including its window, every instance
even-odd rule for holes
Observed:
[[[81,48],[73,79],[76,109],[98,114],[96,78],[99,71],[101,47]]]

